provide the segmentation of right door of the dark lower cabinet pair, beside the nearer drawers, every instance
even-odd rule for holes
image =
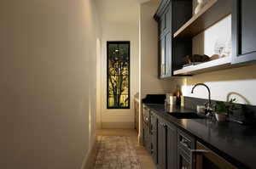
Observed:
[[[176,168],[177,166],[177,127],[172,124],[167,124],[166,130],[166,166]]]

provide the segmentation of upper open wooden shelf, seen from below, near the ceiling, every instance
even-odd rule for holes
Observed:
[[[173,37],[195,37],[232,12],[232,0],[209,0]]]

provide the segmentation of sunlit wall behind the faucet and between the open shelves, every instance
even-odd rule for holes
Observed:
[[[229,39],[231,37],[231,16],[220,20],[206,31],[193,39],[193,53],[212,56],[214,43],[218,38]],[[205,87],[197,87],[195,93],[190,93],[191,88],[198,82],[206,83],[212,91],[212,99],[227,100],[227,95],[236,98],[238,103],[256,105],[256,66],[232,68],[230,70],[218,70],[192,77],[175,80],[175,83],[183,85],[185,96],[207,99]],[[240,95],[240,96],[239,96]]]

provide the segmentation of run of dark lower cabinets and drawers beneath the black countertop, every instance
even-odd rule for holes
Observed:
[[[143,143],[157,169],[237,169],[183,128],[143,109]]]

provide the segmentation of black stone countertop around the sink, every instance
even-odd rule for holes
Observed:
[[[189,132],[218,155],[239,168],[256,168],[256,127],[241,126],[236,122],[217,122],[211,119],[177,119],[167,113],[164,104],[145,104],[156,115]],[[195,112],[174,108],[173,112]]]

